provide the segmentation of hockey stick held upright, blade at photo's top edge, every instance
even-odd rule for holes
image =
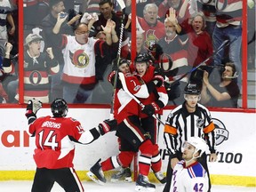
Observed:
[[[117,84],[117,74],[118,74],[118,66],[121,59],[121,49],[122,49],[122,40],[124,35],[124,8],[125,4],[123,0],[116,0],[116,2],[120,5],[121,9],[123,10],[123,15],[121,19],[121,28],[120,28],[120,36],[119,36],[119,44],[118,44],[118,51],[116,55],[116,74],[114,77],[114,84],[113,84],[113,100],[111,103],[110,108],[110,119],[114,119],[114,105],[115,105],[115,95],[116,95],[116,84]],[[115,63],[113,63],[115,65]]]

